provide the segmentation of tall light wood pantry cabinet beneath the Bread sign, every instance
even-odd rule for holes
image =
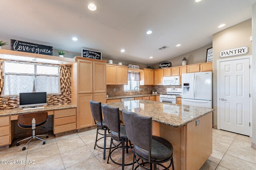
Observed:
[[[75,57],[71,66],[72,104],[77,106],[77,129],[94,125],[90,100],[106,103],[106,62]]]

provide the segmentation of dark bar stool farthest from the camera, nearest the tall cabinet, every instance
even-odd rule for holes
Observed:
[[[94,119],[94,123],[97,125],[97,133],[96,133],[94,149],[96,148],[96,146],[100,149],[104,149],[103,159],[105,159],[106,158],[106,149],[109,149],[109,148],[106,148],[106,137],[110,137],[111,134],[110,134],[108,127],[105,124],[104,119],[102,118],[101,102],[94,102],[94,101],[90,100],[90,106],[91,106],[92,117]],[[104,130],[104,134],[100,133],[99,130]],[[107,135],[107,131],[108,131],[108,135]],[[104,135],[104,137],[101,137],[98,139],[98,134]],[[104,147],[100,147],[97,145],[97,142],[102,138],[104,138]]]

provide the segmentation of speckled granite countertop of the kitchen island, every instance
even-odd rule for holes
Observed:
[[[184,126],[191,121],[214,111],[214,109],[204,107],[176,105],[148,100],[116,102],[104,105],[119,107],[120,110],[126,109],[139,115],[149,116],[152,117],[153,121],[172,127]]]

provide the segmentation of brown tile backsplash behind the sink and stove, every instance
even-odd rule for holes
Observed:
[[[142,88],[140,94],[152,94],[153,88],[158,94],[166,94],[166,88],[181,88],[181,86],[140,86],[140,88]],[[107,86],[107,95],[108,97],[131,96],[134,95],[134,91],[124,91],[123,85]]]

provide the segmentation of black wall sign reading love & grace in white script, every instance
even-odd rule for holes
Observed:
[[[47,45],[34,44],[25,41],[11,39],[11,50],[13,51],[52,55],[52,48],[53,47]]]

